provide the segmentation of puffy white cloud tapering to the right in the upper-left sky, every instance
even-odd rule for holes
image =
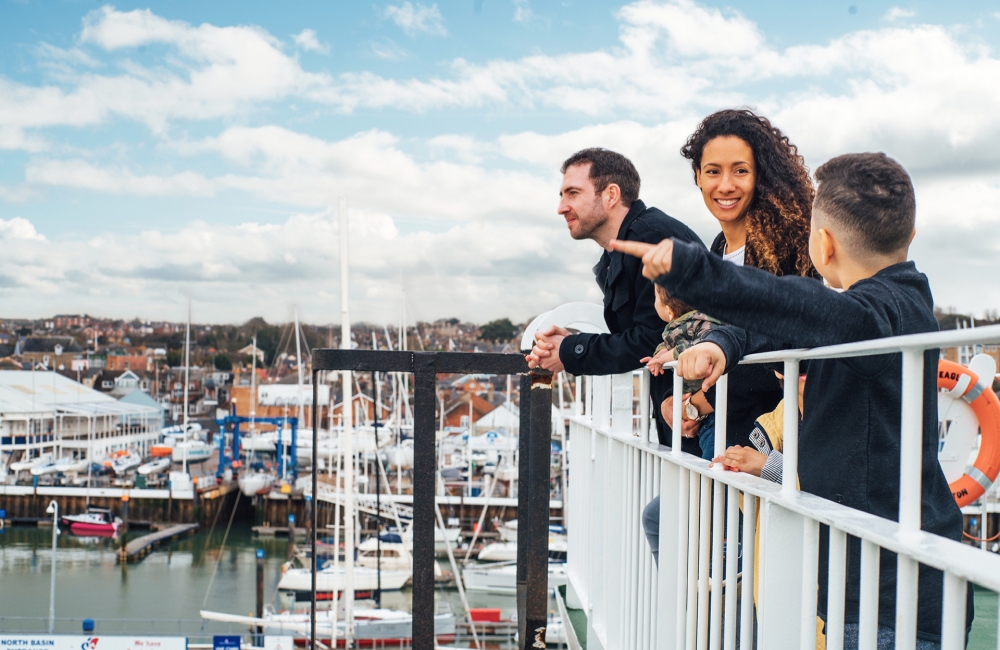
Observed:
[[[149,10],[106,6],[86,16],[79,41],[108,53],[163,43],[176,55],[155,68],[126,59],[116,75],[84,66],[72,83],[62,72],[59,85],[26,86],[0,77],[0,124],[85,126],[120,116],[164,132],[173,120],[239,115],[254,104],[330,84],[328,75],[305,72],[277,39],[256,27],[193,27]]]

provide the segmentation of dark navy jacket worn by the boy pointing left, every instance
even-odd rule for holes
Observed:
[[[894,264],[838,293],[801,277],[778,278],[727,264],[701,247],[675,242],[673,268],[657,283],[692,307],[730,323],[705,340],[732,367],[744,355],[937,331],[927,277],[913,262]],[[743,328],[743,329],[740,329]],[[937,459],[937,350],[924,354],[921,528],[962,538],[962,513]],[[887,354],[810,361],[799,438],[802,490],[898,521],[902,358]],[[820,535],[819,610],[825,617],[829,530]],[[861,544],[849,538],[848,623],[858,621]],[[940,571],[920,568],[917,633],[941,634]],[[973,615],[972,586],[967,623]],[[882,551],[879,622],[895,625],[896,556]]]

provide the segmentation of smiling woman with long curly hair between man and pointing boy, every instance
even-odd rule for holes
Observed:
[[[681,155],[691,161],[695,184],[722,229],[710,247],[713,253],[774,275],[819,278],[809,259],[812,179],[798,149],[770,120],[749,109],[712,113],[681,147]],[[777,407],[781,384],[759,365],[736,366],[729,374],[726,447],[751,446],[754,422]],[[714,425],[705,418],[714,411],[715,387],[683,399],[681,434],[699,436],[699,446],[711,458]],[[673,397],[660,410],[672,426]],[[642,523],[657,562],[659,520],[656,497],[643,510]]]

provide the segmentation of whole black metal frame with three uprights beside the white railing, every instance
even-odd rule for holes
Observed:
[[[413,648],[432,650],[434,639],[434,528],[436,518],[435,431],[437,375],[481,373],[522,375],[518,466],[517,595],[519,641],[523,648],[545,647],[548,604],[549,462],[552,440],[552,375],[529,371],[519,354],[313,350],[313,475],[319,431],[319,373],[323,371],[406,372],[413,395]],[[530,373],[530,374],[529,374]],[[377,407],[377,405],[376,405]],[[527,435],[525,435],[527,434]],[[317,508],[312,508],[312,549],[316,557]],[[312,648],[316,645],[316,565],[312,565]],[[460,580],[461,576],[455,576]],[[537,642],[542,645],[536,645]]]

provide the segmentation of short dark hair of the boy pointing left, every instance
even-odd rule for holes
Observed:
[[[917,201],[898,162],[884,153],[845,154],[820,165],[816,181],[814,208],[846,228],[851,252],[885,255],[909,246]]]

